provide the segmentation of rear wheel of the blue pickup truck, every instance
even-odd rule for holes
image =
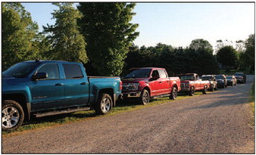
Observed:
[[[95,105],[95,112],[98,115],[104,115],[111,111],[113,106],[113,101],[110,95],[100,94],[98,96],[97,104]]]

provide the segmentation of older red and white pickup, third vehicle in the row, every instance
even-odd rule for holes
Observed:
[[[208,80],[202,81],[196,73],[179,74],[181,92],[188,92],[190,96],[195,94],[195,91],[202,91],[206,94],[208,88],[210,88],[210,82]]]

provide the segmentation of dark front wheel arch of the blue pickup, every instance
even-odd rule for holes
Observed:
[[[20,104],[20,106],[23,109],[24,115],[25,115],[24,119],[25,120],[30,119],[30,113],[28,113],[27,100],[26,100],[25,95],[23,95],[23,94],[2,95],[2,101],[5,101],[5,100],[13,100],[13,101],[16,101],[18,104]]]

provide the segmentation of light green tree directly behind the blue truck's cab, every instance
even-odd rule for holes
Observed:
[[[86,42],[76,23],[82,14],[73,8],[73,3],[53,5],[58,7],[58,10],[52,13],[52,18],[56,19],[55,25],[44,26],[44,33],[48,34],[47,39],[52,48],[45,54],[52,60],[78,61],[86,64]]]

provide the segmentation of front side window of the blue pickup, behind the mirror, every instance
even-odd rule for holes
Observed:
[[[37,73],[47,73],[48,77],[45,79],[60,79],[57,64],[45,64],[37,70]]]

